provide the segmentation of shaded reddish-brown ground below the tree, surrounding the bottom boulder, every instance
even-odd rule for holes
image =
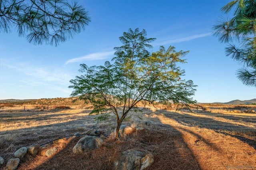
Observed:
[[[86,153],[74,154],[72,148],[79,138],[74,138],[54,156],[38,156],[24,162],[19,169],[26,170],[112,170],[114,160],[124,150],[136,149],[154,154],[155,162],[146,170],[193,169],[200,170],[193,152],[182,138],[182,134],[169,125],[159,125],[134,131],[120,140],[104,139],[104,146]]]

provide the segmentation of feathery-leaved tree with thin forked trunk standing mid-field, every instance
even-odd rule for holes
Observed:
[[[176,63],[185,63],[188,51],[175,51],[170,46],[167,50],[161,46],[160,51],[150,54],[146,48],[152,48],[154,38],[146,38],[146,30],[136,28],[124,32],[119,38],[123,43],[115,47],[116,57],[113,64],[106,61],[104,66],[88,67],[81,64],[80,72],[84,75],[70,80],[69,88],[74,89],[71,96],[92,105],[90,114],[103,114],[109,111],[116,116],[115,137],[124,118],[139,102],[162,103],[171,107],[172,103],[190,107],[195,104],[192,98],[196,89],[191,80],[181,79],[185,71]]]

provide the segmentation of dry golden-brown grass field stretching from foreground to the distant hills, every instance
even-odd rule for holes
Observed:
[[[245,109],[255,111],[256,106],[202,105],[194,113],[142,107],[141,113],[131,113],[123,125],[144,130],[114,140],[114,117],[97,122],[97,116],[80,105],[58,105],[2,105],[0,156],[8,160],[23,146],[101,129],[105,144],[100,149],[73,154],[79,138],[69,138],[52,157],[22,158],[18,170],[109,170],[122,151],[132,148],[154,154],[155,162],[148,170],[256,169],[256,113],[244,113]]]

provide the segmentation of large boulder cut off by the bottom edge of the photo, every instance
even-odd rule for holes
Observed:
[[[143,170],[154,163],[153,154],[138,150],[126,150],[114,162],[115,170]]]

